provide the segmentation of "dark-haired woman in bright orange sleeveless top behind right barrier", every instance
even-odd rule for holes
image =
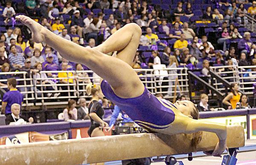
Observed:
[[[231,92],[223,99],[222,103],[228,105],[228,109],[236,109],[236,104],[240,101],[241,93],[238,91],[239,86],[236,83],[231,84]],[[228,102],[230,101],[230,102]]]

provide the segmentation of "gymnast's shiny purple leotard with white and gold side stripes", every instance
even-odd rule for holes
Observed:
[[[105,80],[101,83],[101,89],[106,98],[145,129],[166,129],[175,119],[172,111],[175,105],[165,99],[158,99],[146,87],[143,94],[135,98],[118,97]]]

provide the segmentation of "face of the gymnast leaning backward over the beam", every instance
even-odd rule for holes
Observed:
[[[183,113],[183,115],[186,115],[188,117],[191,117],[191,112],[193,111],[193,108],[195,106],[194,103],[192,103],[191,101],[188,100],[183,100],[183,101],[176,101],[176,103],[174,103],[175,106],[177,107],[177,109]]]

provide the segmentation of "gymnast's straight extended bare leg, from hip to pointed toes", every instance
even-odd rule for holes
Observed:
[[[67,39],[55,35],[39,23],[29,17],[19,15],[16,17],[32,31],[32,38],[35,42],[46,42],[57,50],[61,56],[69,61],[87,65],[97,75],[104,78],[113,88],[116,95],[122,98],[132,98],[144,92],[144,85],[136,72],[126,62],[101,53],[98,50],[84,48]],[[138,28],[134,25],[134,31]],[[131,39],[124,38],[123,42],[115,43],[120,45],[119,49],[125,49]]]

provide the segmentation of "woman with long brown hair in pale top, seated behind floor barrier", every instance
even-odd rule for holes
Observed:
[[[67,108],[63,111],[64,120],[77,120],[77,109],[76,109],[76,101],[71,99],[67,103]]]

